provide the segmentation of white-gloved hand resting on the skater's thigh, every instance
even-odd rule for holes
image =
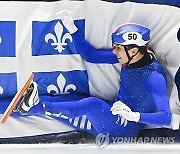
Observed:
[[[133,112],[126,104],[121,101],[117,101],[111,107],[113,115],[121,115],[128,121],[138,122],[140,120],[140,113]]]

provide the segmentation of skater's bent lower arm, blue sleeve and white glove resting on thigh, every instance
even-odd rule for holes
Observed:
[[[112,114],[121,115],[128,121],[140,122],[148,125],[170,125],[171,111],[164,77],[161,74],[155,73],[148,79],[147,83],[147,88],[149,88],[148,91],[152,93],[155,102],[157,110],[155,113],[135,112],[123,102],[117,101],[111,107]]]

